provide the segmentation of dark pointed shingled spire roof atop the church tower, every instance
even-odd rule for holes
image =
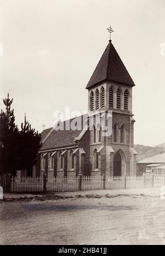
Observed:
[[[111,40],[92,74],[86,89],[103,81],[112,81],[135,86]]]

